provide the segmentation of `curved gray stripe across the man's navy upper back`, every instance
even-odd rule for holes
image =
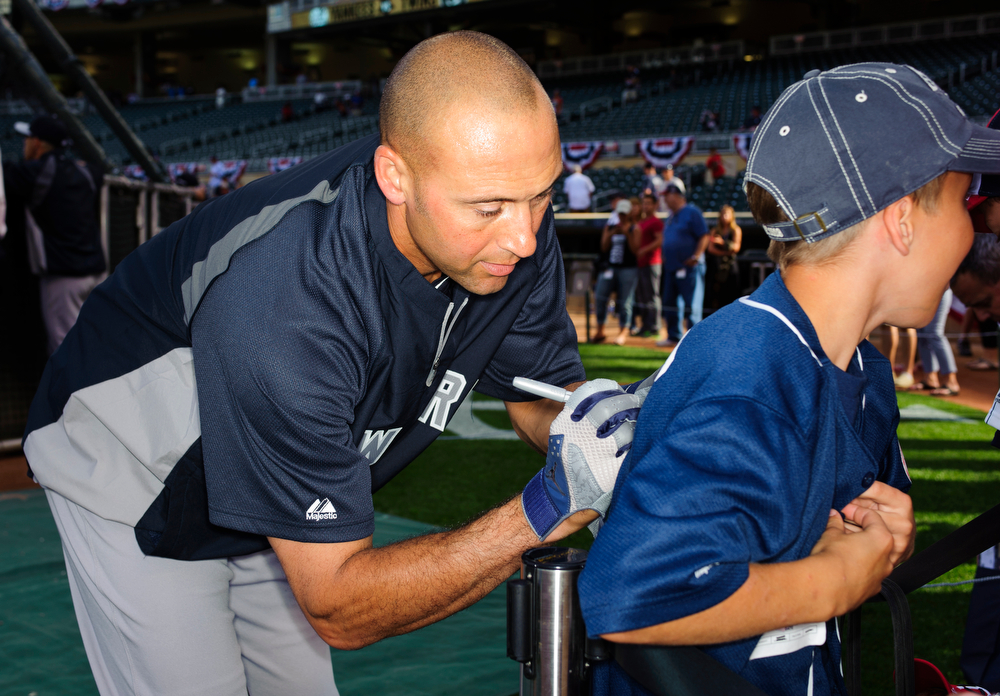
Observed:
[[[318,201],[325,205],[333,203],[340,188],[330,190],[330,182],[325,179],[312,191],[298,198],[275,203],[261,209],[256,215],[248,217],[209,249],[208,255],[191,267],[191,277],[181,286],[181,296],[184,298],[184,322],[191,324],[194,310],[201,302],[205,290],[217,276],[229,268],[229,261],[244,245],[249,244],[270,232],[290,210],[302,203]]]

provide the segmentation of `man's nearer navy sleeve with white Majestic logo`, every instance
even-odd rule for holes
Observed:
[[[297,264],[326,258],[300,248],[322,239],[298,232],[314,214],[297,210],[234,256],[194,317],[205,479],[214,524],[353,541],[373,530],[371,473],[350,426],[378,349],[366,327],[380,319],[335,264]]]

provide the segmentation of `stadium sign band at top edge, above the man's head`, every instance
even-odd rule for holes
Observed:
[[[457,7],[482,0],[286,0],[267,8],[267,31],[316,29],[388,15]]]

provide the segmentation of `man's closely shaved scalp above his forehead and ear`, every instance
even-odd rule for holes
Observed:
[[[456,105],[483,116],[551,106],[535,73],[504,42],[475,31],[440,34],[411,49],[386,80],[382,143],[412,165]]]

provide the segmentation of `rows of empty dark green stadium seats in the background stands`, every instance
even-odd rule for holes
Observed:
[[[1000,107],[998,46],[996,36],[979,36],[828,50],[732,65],[704,64],[679,73],[671,68],[649,70],[640,75],[639,101],[627,104],[622,104],[625,84],[620,74],[562,78],[545,86],[550,93],[560,90],[564,142],[697,133],[706,110],[718,113],[720,132],[736,131],[751,107],[766,110],[785,87],[809,70],[859,61],[913,65],[939,84],[954,85],[949,92],[955,101],[971,116],[985,117]],[[287,123],[281,119],[283,104],[282,100],[253,101],[217,109],[213,98],[193,98],[127,105],[121,115],[164,162],[207,161],[216,155],[250,159],[251,170],[265,169],[268,157],[314,157],[378,129],[376,99],[368,99],[360,114],[346,117],[335,109],[317,113],[312,99],[294,99],[294,119]],[[0,116],[0,151],[5,160],[20,156],[22,143],[13,124],[26,119]],[[132,162],[100,116],[87,114],[83,122],[112,162]],[[638,185],[632,170],[594,171],[610,172],[607,176],[612,178],[605,182],[608,188],[634,192],[630,187]],[[723,190],[724,184],[711,191],[692,190],[692,195],[704,195],[706,202],[713,197],[728,200],[732,195]]]

